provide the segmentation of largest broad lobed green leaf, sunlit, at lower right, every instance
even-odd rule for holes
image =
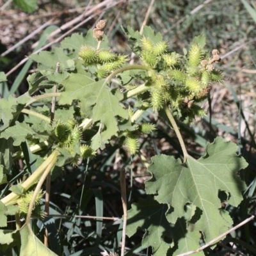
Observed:
[[[243,200],[241,191],[246,186],[237,172],[247,166],[246,161],[236,154],[237,146],[217,138],[208,144],[206,154],[198,160],[188,157],[187,163],[171,156],[152,157],[148,168],[152,179],[146,182],[148,194],[154,194],[161,204],[169,204],[173,212],[167,218],[175,223],[185,214],[184,206],[193,204],[200,210],[194,230],[204,233],[210,241],[227,231],[232,225],[227,212],[221,210],[218,193],[227,193],[227,202],[237,206]]]

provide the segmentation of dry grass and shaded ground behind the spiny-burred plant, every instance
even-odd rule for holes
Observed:
[[[129,25],[135,30],[140,30],[148,6],[150,6],[150,1],[28,2],[31,3],[29,6],[22,6],[16,2],[6,5],[2,3],[0,28],[3,33],[0,35],[0,71],[5,73],[15,67],[24,56],[35,51],[36,47],[39,49],[39,46],[54,40],[51,37],[47,41],[46,38],[54,29],[68,24],[70,20],[83,13],[84,6],[87,6],[87,10],[84,12],[83,20],[86,20],[89,15],[93,15],[93,19],[88,19],[83,26],[77,28],[76,32],[86,35],[95,21],[102,17],[107,20],[106,34],[112,50],[127,54],[129,52],[126,44],[127,38],[124,36],[121,25]],[[230,212],[235,224],[243,221],[250,214],[255,214],[255,114],[253,111],[255,79],[253,77],[255,76],[256,15],[255,6],[251,4],[252,6],[248,7],[246,1],[237,0],[156,1],[147,20],[147,25],[152,26],[155,31],[160,31],[164,39],[168,40],[170,47],[180,54],[182,54],[182,48],[188,48],[193,37],[201,33],[204,33],[207,38],[207,48],[218,49],[221,53],[222,62],[218,68],[223,71],[225,83],[212,84],[211,99],[209,99],[211,108],[208,103],[204,106],[209,111],[209,116],[203,120],[195,120],[190,127],[180,125],[182,135],[186,138],[189,154],[195,158],[204,155],[202,147],[218,135],[239,144],[239,154],[244,156],[249,163],[246,172],[241,173],[248,190],[244,192],[244,200],[239,207],[226,205],[226,210]],[[29,14],[22,12],[20,8]],[[89,13],[90,10],[93,12]],[[21,42],[22,38],[31,35],[32,31],[40,28],[51,17],[55,17],[55,20],[52,20],[47,28],[42,28],[26,42]],[[67,29],[62,28],[61,33],[63,34]],[[60,34],[55,35],[55,38],[59,36]],[[35,44],[37,40],[38,46]],[[17,48],[4,54],[6,49],[10,49],[18,42],[20,44]],[[1,97],[7,99],[12,93],[21,95],[26,92],[29,88],[26,77],[34,68],[36,64],[28,62],[10,74],[8,83],[2,83],[0,88]],[[17,109],[13,109],[13,113],[15,111]],[[42,113],[44,111],[42,107]],[[151,156],[161,153],[180,156],[179,142],[173,136],[173,131],[170,131],[166,121],[157,118],[157,115],[150,111],[147,115],[141,116],[141,120],[154,122],[158,127],[154,134],[140,138],[140,151],[148,161]],[[22,137],[22,134],[18,135]],[[8,163],[10,159],[5,159],[5,161]],[[22,179],[28,168],[33,171],[38,164],[33,163],[28,166],[27,163],[14,161],[11,173],[12,182]],[[84,177],[86,168],[88,172]],[[150,177],[150,174],[147,173],[140,157],[131,157],[123,148],[118,148],[114,140],[105,150],[100,151],[88,166],[86,163],[76,168],[68,165],[63,170],[63,176],[55,177],[51,190],[51,214],[61,213],[70,217],[55,220],[58,232],[56,228],[54,230],[51,219],[45,218],[44,220],[45,225],[52,228],[52,234],[58,234],[50,239],[51,249],[54,249],[54,252],[63,253],[63,255],[93,255],[93,253],[99,255],[104,249],[112,251],[118,248],[120,241],[118,221],[87,220],[76,218],[76,215],[85,211],[86,214],[92,216],[102,216],[103,212],[104,216],[122,216],[118,173],[120,168],[128,171],[129,204],[138,202],[139,198],[145,198],[144,181]],[[90,189],[86,197],[83,197],[82,193],[81,200],[83,183],[85,187],[87,186],[86,188],[90,186]],[[1,195],[4,195],[5,186],[1,185],[1,189]],[[80,200],[83,201],[83,205],[79,207]],[[42,223],[34,221],[34,232],[36,236],[42,238],[44,236],[40,230]],[[8,228],[13,229],[12,225],[14,224],[10,223]],[[132,253],[150,255],[150,251],[143,251],[141,248],[142,234],[138,231],[135,236],[128,239],[129,253],[127,255],[132,255]],[[245,255],[252,255],[256,253],[253,248],[255,243],[255,223],[251,221],[219,243],[216,250],[209,250],[205,253],[208,255],[225,255],[225,253],[239,255],[239,252],[243,252]],[[1,250],[4,251],[5,248]],[[6,255],[18,255],[15,248],[5,253]]]

